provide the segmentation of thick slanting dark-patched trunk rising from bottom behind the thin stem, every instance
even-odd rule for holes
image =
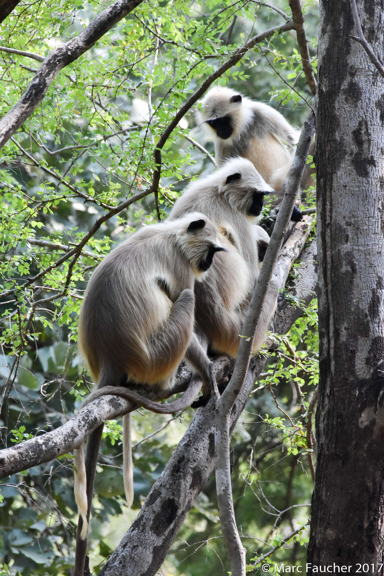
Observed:
[[[308,221],[301,222],[295,226],[296,230],[287,242],[287,253],[292,251],[294,246],[296,255],[301,251],[308,223]],[[286,264],[282,263],[280,270],[282,285],[286,281],[292,262],[292,260],[288,261],[284,249],[282,262],[285,261]],[[303,266],[306,272],[295,283],[297,295],[301,300],[307,301],[314,295],[317,281],[313,268],[314,258],[313,249],[305,249],[301,255],[302,262],[306,263]],[[278,266],[280,269],[280,260]],[[309,281],[309,274],[311,274],[311,281]],[[295,309],[287,304],[284,305],[276,316],[275,331],[283,334],[281,330],[286,331],[287,326],[290,327],[297,317],[296,314]],[[264,356],[253,359],[244,386],[231,412],[230,431],[233,430],[252,391],[254,381],[266,362],[267,358]],[[214,400],[211,400],[206,407],[197,411],[164,472],[154,483],[136,520],[101,570],[100,576],[153,576],[157,574],[188,510],[210,477],[214,468],[214,449]]]

